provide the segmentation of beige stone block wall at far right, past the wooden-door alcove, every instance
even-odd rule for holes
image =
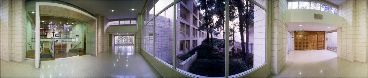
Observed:
[[[367,1],[346,0],[339,5],[343,26],[337,29],[337,56],[350,62],[367,62]]]

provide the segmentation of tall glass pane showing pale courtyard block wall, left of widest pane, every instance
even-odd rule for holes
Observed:
[[[170,0],[159,0],[158,2],[171,3]],[[157,5],[155,7],[162,7]],[[165,5],[167,6],[167,5]],[[174,7],[171,6],[157,17],[155,17],[155,57],[163,62],[173,65],[173,28],[174,28]],[[156,9],[157,10],[157,9]],[[157,11],[156,11],[157,12]]]

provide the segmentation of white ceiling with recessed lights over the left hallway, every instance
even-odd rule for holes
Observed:
[[[61,0],[107,19],[137,18],[146,0]],[[132,11],[131,9],[134,9]],[[112,12],[111,10],[114,10]]]

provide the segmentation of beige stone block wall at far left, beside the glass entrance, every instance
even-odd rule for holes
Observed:
[[[25,1],[1,0],[0,56],[7,62],[25,59]]]

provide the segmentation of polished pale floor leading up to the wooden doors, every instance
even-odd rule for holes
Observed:
[[[279,75],[270,78],[368,78],[368,63],[350,62],[329,50],[290,51]]]

